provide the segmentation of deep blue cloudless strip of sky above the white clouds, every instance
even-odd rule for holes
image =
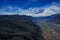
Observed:
[[[0,0],[0,7],[4,6],[18,6],[24,8],[41,7],[49,5],[52,2],[60,3],[60,0]]]

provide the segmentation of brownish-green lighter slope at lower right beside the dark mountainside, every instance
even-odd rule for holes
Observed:
[[[37,22],[43,31],[46,40],[60,40],[60,24],[51,22]]]

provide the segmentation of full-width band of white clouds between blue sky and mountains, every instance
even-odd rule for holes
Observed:
[[[6,11],[8,9],[8,11]],[[45,7],[35,7],[29,9],[8,7],[0,9],[0,15],[28,15],[33,17],[40,16],[50,16],[53,14],[60,14],[60,4],[52,3],[51,5],[47,5]]]

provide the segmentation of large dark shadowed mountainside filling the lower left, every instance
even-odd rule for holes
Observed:
[[[42,40],[42,31],[25,16],[0,16],[0,40]]]

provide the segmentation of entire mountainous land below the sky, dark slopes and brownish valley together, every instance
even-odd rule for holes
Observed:
[[[60,14],[0,15],[0,40],[60,40]]]

